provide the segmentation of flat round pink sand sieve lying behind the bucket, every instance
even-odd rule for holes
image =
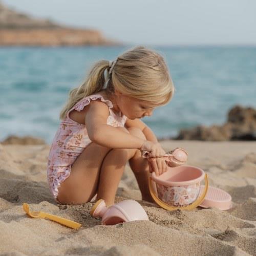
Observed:
[[[204,190],[204,185],[200,186],[200,195]],[[216,207],[220,210],[228,210],[232,207],[232,198],[224,190],[209,186],[204,201],[199,205],[203,208]]]

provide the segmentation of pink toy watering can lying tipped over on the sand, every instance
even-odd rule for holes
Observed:
[[[121,222],[148,220],[145,210],[135,200],[124,200],[106,207],[103,199],[98,200],[91,210],[93,217],[101,217],[103,225],[115,225]]]

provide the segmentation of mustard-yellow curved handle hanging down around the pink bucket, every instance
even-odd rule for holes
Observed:
[[[148,187],[150,188],[150,194],[152,196],[152,198],[155,200],[155,202],[161,206],[162,208],[166,209],[166,210],[177,210],[177,209],[182,209],[182,210],[193,210],[195,209],[199,204],[201,204],[207,194],[207,191],[208,191],[208,177],[207,177],[207,174],[205,174],[204,176],[204,180],[205,180],[205,185],[204,185],[204,190],[203,190],[203,193],[200,197],[198,197],[198,199],[187,205],[187,206],[170,206],[168,205],[167,203],[163,202],[161,199],[158,198],[158,196],[155,195],[154,193],[154,189],[152,187],[152,177],[148,177]],[[200,193],[200,191],[199,191]]]

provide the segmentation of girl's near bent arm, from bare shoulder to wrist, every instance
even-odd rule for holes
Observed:
[[[109,107],[98,100],[86,106],[86,127],[89,138],[102,146],[110,148],[141,148],[146,141],[121,129],[106,124]]]

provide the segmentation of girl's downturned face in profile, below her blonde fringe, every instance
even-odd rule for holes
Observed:
[[[148,101],[138,100],[122,94],[117,96],[116,102],[123,115],[127,116],[129,119],[151,116],[153,110],[156,108]]]

